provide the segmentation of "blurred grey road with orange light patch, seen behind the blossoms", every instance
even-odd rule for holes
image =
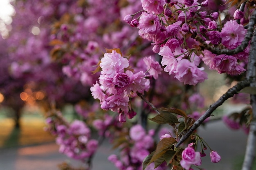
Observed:
[[[234,170],[234,165],[243,162],[247,138],[243,131],[231,131],[221,121],[209,123],[198,131],[209,146],[217,150],[222,157],[219,163],[211,163],[209,149],[205,150],[207,156],[202,159],[202,168]],[[108,155],[113,152],[110,147],[105,142],[99,148],[94,157],[93,170],[117,170],[107,160]],[[75,167],[82,166],[79,161],[58,153],[58,146],[54,143],[0,149],[0,170],[58,170],[57,165],[63,161],[68,161]]]

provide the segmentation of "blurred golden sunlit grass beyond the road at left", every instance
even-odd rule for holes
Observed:
[[[20,129],[16,129],[12,118],[0,118],[0,148],[54,142],[54,137],[43,130],[43,116],[23,115],[20,125]]]

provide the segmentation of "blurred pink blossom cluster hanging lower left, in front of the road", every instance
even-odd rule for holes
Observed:
[[[47,131],[56,135],[56,143],[60,146],[59,152],[70,158],[85,161],[97,150],[98,141],[91,139],[90,128],[81,120],[74,120],[68,124],[60,120],[59,116],[48,117]]]

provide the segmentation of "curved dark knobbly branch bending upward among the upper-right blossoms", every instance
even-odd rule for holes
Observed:
[[[201,46],[202,49],[209,50],[214,54],[217,54],[217,55],[220,55],[220,54],[234,55],[234,54],[237,54],[239,52],[242,52],[248,46],[249,41],[252,39],[255,23],[256,23],[256,9],[254,10],[253,14],[250,17],[248,28],[247,28],[247,33],[245,35],[245,39],[242,41],[242,43],[237,48],[235,48],[233,50],[230,50],[230,49],[227,49],[227,48],[220,49],[220,48],[215,48],[213,46],[210,46],[200,36],[195,37],[195,39],[198,42],[200,42],[200,46]]]

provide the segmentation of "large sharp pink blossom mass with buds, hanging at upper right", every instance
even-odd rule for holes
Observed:
[[[196,85],[207,79],[200,67],[201,61],[218,73],[238,75],[245,71],[249,48],[234,56],[216,55],[200,49],[195,37],[201,37],[209,45],[234,49],[243,41],[246,29],[236,20],[221,26],[218,12],[201,11],[208,7],[208,0],[141,0],[144,11],[135,17],[124,18],[131,26],[139,28],[139,35],[153,42],[153,51],[162,56],[164,71],[184,84]],[[137,16],[137,13],[136,13]],[[241,18],[236,11],[234,19]]]

